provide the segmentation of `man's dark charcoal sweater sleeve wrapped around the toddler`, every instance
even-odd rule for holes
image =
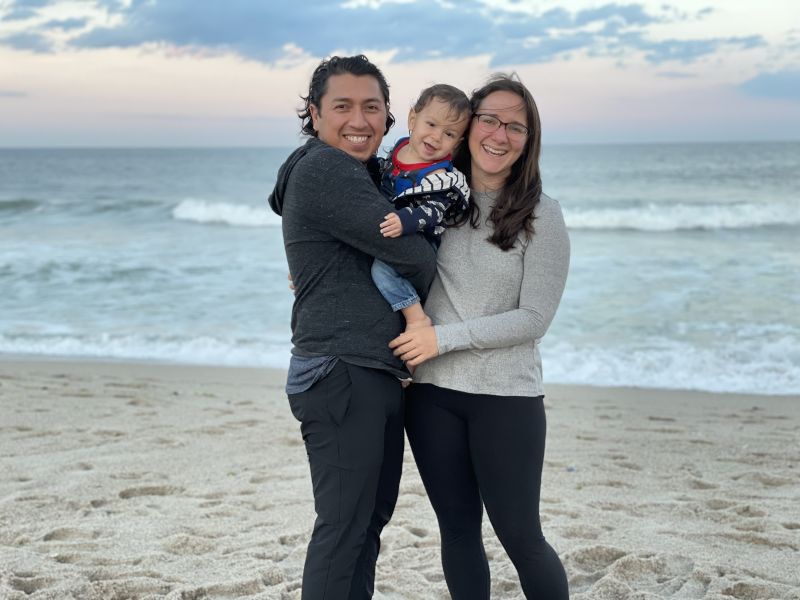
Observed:
[[[381,235],[388,203],[362,163],[327,148],[314,160],[295,165],[286,193],[301,199],[297,208],[309,225],[384,261],[408,279],[421,298],[427,296],[436,273],[436,254],[422,236]]]

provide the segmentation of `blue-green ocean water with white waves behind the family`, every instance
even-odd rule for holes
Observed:
[[[285,367],[290,150],[0,150],[0,359]],[[800,143],[542,160],[572,240],[546,381],[800,393]]]

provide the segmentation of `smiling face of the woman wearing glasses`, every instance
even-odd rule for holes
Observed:
[[[492,92],[475,111],[469,130],[469,151],[472,155],[472,187],[478,191],[503,187],[511,166],[525,150],[527,136],[508,136],[505,126],[491,131],[477,115],[491,115],[503,123],[529,127],[524,100],[513,92]],[[528,134],[530,135],[530,134]]]

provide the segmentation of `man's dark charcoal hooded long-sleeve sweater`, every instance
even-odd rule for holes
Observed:
[[[295,284],[292,352],[404,373],[388,347],[403,317],[378,292],[370,269],[381,259],[425,298],[436,265],[430,244],[419,235],[383,237],[386,200],[364,164],[316,138],[287,158],[269,202],[283,217]]]

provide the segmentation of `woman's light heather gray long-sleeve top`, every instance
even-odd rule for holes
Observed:
[[[436,325],[439,356],[414,380],[469,392],[539,396],[539,340],[555,316],[569,270],[569,237],[558,203],[545,196],[534,211],[534,234],[502,251],[486,224],[494,196],[473,192],[478,229],[450,228],[442,237],[437,275],[425,312]]]

